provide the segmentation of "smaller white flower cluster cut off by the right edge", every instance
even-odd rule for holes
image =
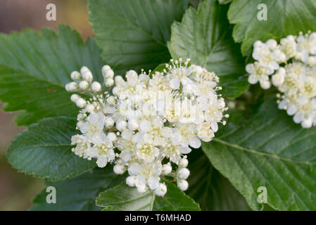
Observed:
[[[279,109],[293,115],[293,121],[303,128],[315,126],[316,32],[289,35],[279,44],[274,39],[255,41],[253,47],[256,61],[246,65],[248,82],[260,82],[263,89],[269,89],[272,82],[282,93],[277,95]]]

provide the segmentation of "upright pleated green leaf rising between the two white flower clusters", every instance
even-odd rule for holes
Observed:
[[[227,5],[216,0],[201,1],[198,11],[189,8],[182,23],[172,24],[168,48],[172,58],[191,58],[220,77],[222,93],[236,98],[248,89],[244,58],[232,39]]]

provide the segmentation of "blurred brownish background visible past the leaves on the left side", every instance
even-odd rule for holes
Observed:
[[[56,5],[56,21],[46,20],[47,4]],[[40,30],[65,23],[80,32],[83,39],[93,35],[85,0],[1,0],[0,32],[20,32],[25,28]],[[4,104],[0,102],[0,109]],[[18,173],[6,160],[6,148],[14,136],[26,127],[13,122],[15,113],[0,110],[0,210],[27,210],[34,196],[44,188],[44,181]]]

